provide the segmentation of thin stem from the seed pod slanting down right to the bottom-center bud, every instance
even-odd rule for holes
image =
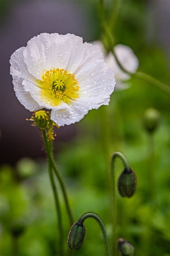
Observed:
[[[44,145],[46,147],[46,152],[47,152],[47,156],[48,156],[48,159],[50,161],[50,164],[57,176],[57,179],[60,183],[60,186],[61,186],[61,190],[62,190],[62,193],[63,193],[63,197],[64,197],[64,200],[65,200],[65,204],[66,204],[66,209],[67,209],[67,213],[68,213],[68,216],[69,216],[69,219],[70,219],[70,224],[72,225],[72,223],[74,223],[74,220],[73,220],[73,216],[72,216],[72,212],[71,212],[71,209],[70,209],[70,205],[69,205],[69,200],[68,200],[68,196],[67,196],[67,193],[66,193],[66,188],[65,188],[65,184],[63,182],[63,179],[62,179],[62,176],[60,175],[57,167],[56,167],[56,164],[55,164],[55,161],[53,159],[53,156],[51,154],[51,151],[50,151],[50,148],[49,148],[49,145],[48,145],[48,141],[47,141],[47,136],[46,136],[46,131],[42,131],[42,134],[43,134],[43,138],[44,138]]]

